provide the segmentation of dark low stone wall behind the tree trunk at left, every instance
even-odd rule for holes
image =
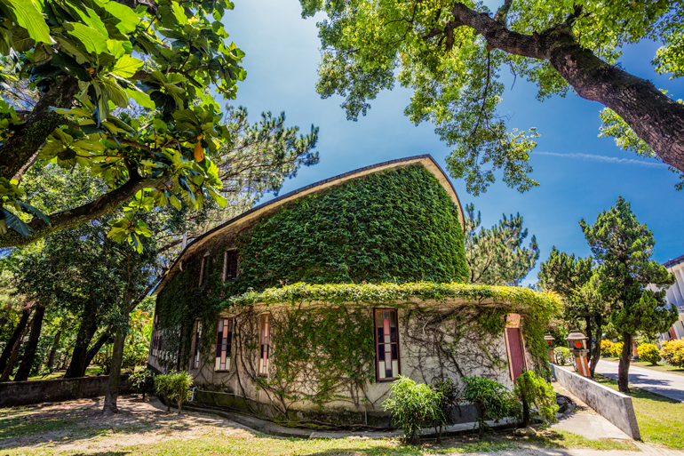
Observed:
[[[4,381],[0,383],[0,407],[105,396],[108,381],[108,375],[76,379]],[[128,374],[123,374],[119,394],[127,394],[130,389]]]

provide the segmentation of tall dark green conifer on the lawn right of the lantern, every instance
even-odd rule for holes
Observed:
[[[624,347],[620,356],[617,384],[629,392],[629,365],[632,337],[636,332],[664,332],[677,320],[676,308],[665,308],[665,290],[674,284],[674,276],[650,260],[656,241],[653,232],[641,225],[620,196],[615,207],[599,214],[593,225],[579,222],[593,258],[598,263],[600,296],[609,308],[609,319],[622,334]],[[654,284],[660,291],[647,290]]]

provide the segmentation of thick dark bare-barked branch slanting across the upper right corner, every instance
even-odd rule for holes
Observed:
[[[613,109],[664,164],[684,172],[684,105],[668,98],[650,81],[609,65],[577,43],[571,28],[582,14],[581,8],[558,26],[531,36],[513,32],[465,4],[455,4],[451,13],[457,22],[481,34],[488,50],[548,60],[580,97]]]

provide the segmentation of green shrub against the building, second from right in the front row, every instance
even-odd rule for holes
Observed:
[[[508,416],[520,416],[518,398],[501,383],[481,377],[464,377],[463,380],[463,398],[477,408],[476,425],[480,438],[484,429],[489,428],[487,420],[498,421]]]

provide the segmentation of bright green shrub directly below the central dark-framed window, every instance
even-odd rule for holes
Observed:
[[[401,375],[392,383],[389,398],[382,405],[402,427],[404,440],[409,444],[416,443],[424,424],[444,422],[441,393]]]

